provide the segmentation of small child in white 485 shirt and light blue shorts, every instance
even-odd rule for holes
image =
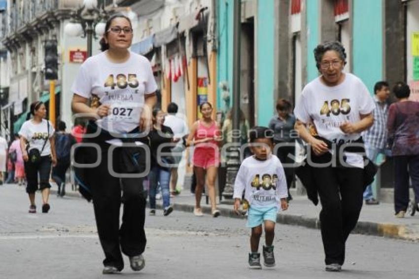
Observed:
[[[288,208],[285,173],[278,157],[272,154],[274,131],[266,127],[254,127],[249,138],[253,156],[244,159],[234,182],[234,211],[239,214],[244,191],[248,202],[247,224],[251,228],[249,267],[260,269],[259,242],[262,223],[265,226],[263,258],[266,267],[275,266],[275,223],[279,209]]]

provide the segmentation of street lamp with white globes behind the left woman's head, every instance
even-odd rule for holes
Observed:
[[[105,20],[108,12],[97,0],[83,0],[83,5],[71,12],[70,23],[64,27],[64,32],[70,36],[87,37],[87,56],[92,56],[93,36],[102,36],[105,33]]]

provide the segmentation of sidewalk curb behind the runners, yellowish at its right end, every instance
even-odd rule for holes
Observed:
[[[51,190],[51,195],[56,195],[57,190]],[[66,193],[66,197],[83,198],[78,192]],[[156,205],[158,209],[163,209],[162,205]],[[193,213],[194,206],[181,203],[173,203],[173,208],[178,211]],[[221,212],[221,216],[246,219],[245,216],[237,215],[233,209],[218,208]],[[202,206],[202,211],[205,214],[211,214],[211,208],[209,206]],[[318,218],[307,217],[302,214],[277,214],[277,223],[302,226],[310,229],[320,229],[320,220]],[[419,241],[419,235],[411,232],[405,225],[396,225],[389,223],[376,223],[368,221],[358,221],[355,229],[352,231],[353,234],[371,235],[385,238]]]

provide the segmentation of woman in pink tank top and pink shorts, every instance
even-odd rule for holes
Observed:
[[[202,216],[201,197],[204,189],[205,176],[207,176],[208,194],[211,201],[211,214],[214,217],[220,215],[216,206],[215,179],[220,162],[218,144],[221,142],[221,132],[217,123],[211,118],[212,105],[205,102],[199,106],[202,118],[196,121],[191,128],[187,139],[188,146],[194,146],[193,164],[196,175],[194,214]],[[206,175],[207,174],[207,175]]]

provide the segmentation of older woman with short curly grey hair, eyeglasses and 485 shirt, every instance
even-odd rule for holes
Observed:
[[[340,42],[319,44],[314,59],[320,76],[301,93],[294,109],[295,129],[311,147],[311,160],[307,161],[322,207],[326,271],[339,272],[345,261],[346,241],[362,208],[366,185],[360,133],[373,124],[375,105],[364,83],[343,71],[346,52]],[[317,135],[307,130],[310,124]]]

